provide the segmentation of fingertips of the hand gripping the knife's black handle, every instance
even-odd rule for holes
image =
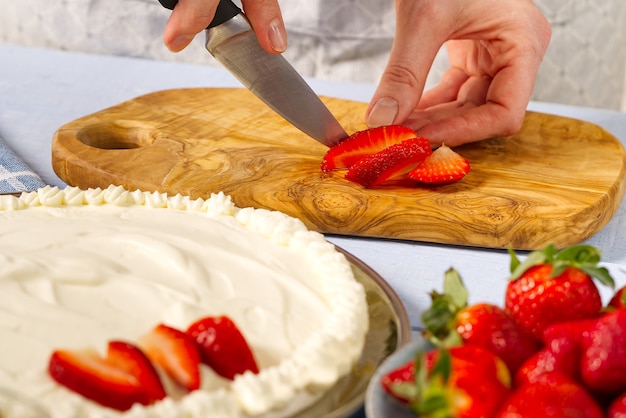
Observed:
[[[179,0],[167,21],[163,42],[172,52],[182,51],[206,29],[215,16],[218,0]],[[277,0],[248,0],[243,10],[261,47],[271,53],[287,49],[287,33]]]

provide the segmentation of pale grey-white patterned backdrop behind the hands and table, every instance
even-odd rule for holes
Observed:
[[[533,100],[626,109],[626,1],[536,3],[553,38]],[[163,46],[169,11],[157,0],[0,0],[0,6],[3,43],[217,65],[203,36],[179,54]],[[282,0],[281,7],[289,32],[285,56],[303,75],[377,81],[393,39],[391,0]],[[428,85],[445,66],[442,51]]]

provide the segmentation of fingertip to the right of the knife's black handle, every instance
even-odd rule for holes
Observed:
[[[287,32],[277,0],[244,1],[243,9],[263,49],[273,53],[287,49]]]

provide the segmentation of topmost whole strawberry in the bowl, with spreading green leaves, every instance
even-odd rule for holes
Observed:
[[[510,254],[505,308],[538,339],[551,324],[600,314],[602,299],[593,278],[614,287],[608,270],[598,266],[599,251],[589,245],[561,251],[549,245],[531,252],[523,263],[513,250]]]

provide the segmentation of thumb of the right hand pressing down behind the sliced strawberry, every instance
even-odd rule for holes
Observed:
[[[396,34],[385,71],[365,113],[369,127],[401,124],[417,107],[445,37],[432,32],[433,10],[415,0],[396,1]]]

